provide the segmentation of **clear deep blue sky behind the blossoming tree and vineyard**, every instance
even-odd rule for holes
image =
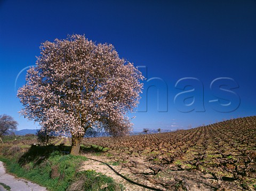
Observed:
[[[85,34],[143,66],[147,112],[135,113],[134,130],[256,115],[255,10],[252,0],[0,1],[0,114],[37,128],[18,114],[26,67],[45,40]]]

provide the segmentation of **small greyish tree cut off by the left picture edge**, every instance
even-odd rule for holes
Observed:
[[[16,130],[18,122],[11,116],[3,114],[0,115],[0,140],[3,143],[2,136],[8,135],[12,130]]]

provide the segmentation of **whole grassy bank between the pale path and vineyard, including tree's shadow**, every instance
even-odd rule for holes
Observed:
[[[58,146],[0,146],[6,170],[49,190],[123,190],[110,177],[93,170],[79,171],[83,156],[64,154]]]

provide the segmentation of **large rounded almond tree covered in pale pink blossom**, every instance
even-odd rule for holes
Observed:
[[[27,71],[18,90],[20,111],[42,129],[71,134],[77,155],[88,128],[124,135],[132,127],[127,113],[139,103],[143,80],[132,63],[119,58],[111,44],[84,36],[45,41],[36,67]]]

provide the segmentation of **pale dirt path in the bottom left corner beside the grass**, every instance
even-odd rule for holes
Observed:
[[[15,178],[6,173],[4,163],[0,161],[0,182],[10,186],[11,191],[46,191],[46,188],[21,178]],[[0,186],[0,191],[6,190]]]

